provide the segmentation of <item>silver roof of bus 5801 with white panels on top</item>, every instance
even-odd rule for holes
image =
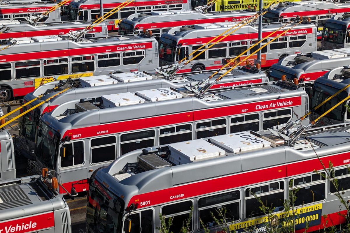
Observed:
[[[168,188],[178,185],[184,188],[183,185],[195,185],[198,181],[207,182],[208,187],[212,188],[210,192],[215,191],[214,187],[217,187],[218,190],[225,190],[225,185],[232,186],[232,182],[230,182],[232,176],[230,175],[249,170],[273,167],[274,170],[266,170],[271,177],[275,177],[270,180],[281,179],[286,177],[286,174],[307,173],[312,172],[313,169],[322,169],[317,155],[321,158],[334,154],[339,156],[350,150],[348,139],[350,127],[333,125],[329,128],[316,128],[307,131],[313,147],[304,134],[295,146],[287,146],[283,139],[274,138],[274,140],[269,137],[270,134],[261,135],[251,131],[210,137],[208,139],[210,143],[203,139],[197,139],[165,146],[148,147],[144,150],[139,149],[124,154],[107,168],[98,170],[95,177],[101,184],[108,185],[108,189],[114,194],[125,196],[125,200],[130,201],[130,203],[126,203],[127,206],[131,203],[138,203],[138,199],[144,200],[137,198],[137,195],[141,197],[157,190],[168,191],[167,194],[169,194]],[[335,130],[335,128],[338,129]],[[240,137],[242,134],[258,139],[259,142],[251,144],[249,143],[251,141]],[[280,145],[276,147],[278,143]],[[159,148],[162,148],[161,156],[158,154]],[[306,159],[309,162],[313,162],[315,159],[315,163],[313,163],[315,166],[306,166],[302,170],[300,170],[301,168],[296,169],[298,165],[293,162]],[[332,162],[337,160],[334,157],[331,159]],[[329,159],[327,158],[327,160]],[[286,163],[290,163],[290,165],[286,166]],[[335,163],[342,164],[342,161]],[[278,165],[281,167],[277,169]],[[216,179],[212,181],[220,185],[210,185],[210,180],[214,178]],[[194,194],[195,189],[188,188],[187,190],[188,192],[183,198],[198,195]],[[150,196],[149,198],[153,200],[151,205],[171,201],[169,195],[162,197],[162,195],[153,193],[153,196],[159,200],[156,201]]]

